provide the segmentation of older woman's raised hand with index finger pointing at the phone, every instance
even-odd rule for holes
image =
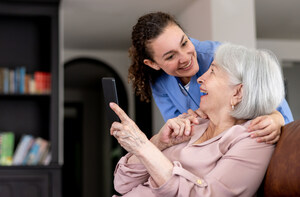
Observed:
[[[148,141],[146,135],[138,128],[126,113],[115,103],[110,108],[119,116],[121,122],[114,122],[110,128],[119,144],[129,153],[136,155],[139,149]]]

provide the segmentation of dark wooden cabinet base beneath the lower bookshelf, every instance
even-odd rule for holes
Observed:
[[[60,179],[60,166],[1,167],[1,197],[61,196]]]

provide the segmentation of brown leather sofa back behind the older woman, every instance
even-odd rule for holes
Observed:
[[[282,128],[257,196],[300,196],[300,120]]]

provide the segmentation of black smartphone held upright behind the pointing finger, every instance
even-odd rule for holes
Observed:
[[[117,116],[117,114],[109,107],[110,102],[114,102],[119,105],[115,78],[103,77],[102,78],[102,88],[103,88],[105,109],[106,109],[106,114],[108,117],[109,125],[111,125],[113,122],[116,122],[116,121],[120,122],[120,119]]]

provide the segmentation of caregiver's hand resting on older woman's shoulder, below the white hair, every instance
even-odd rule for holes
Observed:
[[[278,142],[281,134],[281,127],[284,125],[282,115],[276,111],[271,115],[265,115],[255,118],[251,121],[248,128],[252,138],[257,138],[257,142],[266,142],[275,144]]]

